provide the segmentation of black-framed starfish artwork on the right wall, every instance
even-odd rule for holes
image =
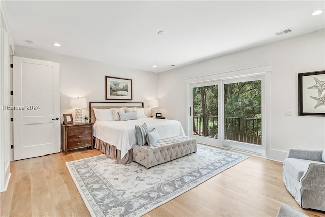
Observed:
[[[325,71],[298,74],[298,115],[325,116]]]

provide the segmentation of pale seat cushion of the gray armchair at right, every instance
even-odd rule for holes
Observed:
[[[297,180],[300,181],[300,178],[303,176],[305,171],[307,171],[310,163],[325,164],[320,161],[310,161],[305,159],[297,158],[286,158],[283,162],[289,171],[289,173]]]

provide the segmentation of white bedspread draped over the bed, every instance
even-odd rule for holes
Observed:
[[[148,130],[157,129],[160,138],[168,138],[172,136],[184,136],[184,130],[179,121],[155,119],[155,118],[139,118],[137,120],[127,121],[97,121],[94,124],[94,136],[110,145],[116,146],[121,151],[121,159],[137,144],[135,125],[143,125],[146,123]]]

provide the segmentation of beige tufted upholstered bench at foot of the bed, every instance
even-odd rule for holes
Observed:
[[[154,146],[132,147],[133,161],[153,167],[197,151],[197,140],[188,136],[174,136],[160,139]]]

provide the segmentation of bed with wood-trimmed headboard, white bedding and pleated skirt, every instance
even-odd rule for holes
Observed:
[[[107,157],[116,159],[118,164],[132,162],[132,146],[137,144],[135,125],[146,123],[148,131],[155,128],[160,138],[173,136],[184,136],[184,130],[179,121],[168,119],[155,119],[140,117],[135,120],[97,120],[94,110],[110,108],[137,108],[144,110],[143,103],[140,102],[90,102],[89,116],[94,123],[94,147],[106,154]],[[96,110],[97,112],[99,110]],[[103,111],[103,110],[100,110]],[[142,115],[143,116],[143,115]]]

